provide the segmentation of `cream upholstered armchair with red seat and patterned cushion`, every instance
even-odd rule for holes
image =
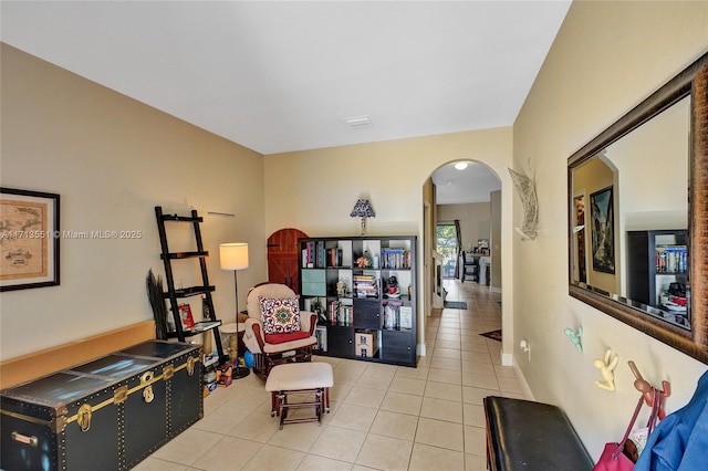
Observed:
[[[300,311],[290,287],[261,283],[249,291],[246,304],[243,344],[253,354],[253,373],[266,379],[275,365],[312,359],[317,316]]]

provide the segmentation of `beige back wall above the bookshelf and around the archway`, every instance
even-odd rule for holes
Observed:
[[[266,156],[266,231],[292,227],[311,237],[355,236],[360,222],[350,212],[366,195],[376,211],[367,223],[369,233],[420,238],[424,184],[438,167],[465,159],[486,164],[500,179],[501,244],[511,247],[510,127]],[[511,258],[502,263],[502,273],[511,273]],[[423,263],[419,266],[421,280]],[[510,293],[510,276],[503,285]],[[429,293],[421,294],[419,306],[426,306]],[[507,295],[504,290],[504,315],[512,312]],[[423,327],[423,310],[419,314]],[[510,341],[503,347],[511,350]]]

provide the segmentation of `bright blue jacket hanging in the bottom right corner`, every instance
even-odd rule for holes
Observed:
[[[708,371],[690,401],[654,429],[634,467],[634,471],[669,470],[708,470]]]

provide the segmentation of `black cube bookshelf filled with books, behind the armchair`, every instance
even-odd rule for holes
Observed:
[[[413,236],[302,238],[300,307],[321,311],[322,355],[416,366]]]

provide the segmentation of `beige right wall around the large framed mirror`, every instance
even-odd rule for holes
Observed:
[[[560,405],[594,457],[636,404],[627,360],[654,384],[671,381],[668,411],[688,401],[706,365],[568,295],[566,158],[705,53],[706,24],[705,1],[574,2],[514,123],[514,160],[531,159],[540,205],[538,239],[513,240],[513,345],[525,338],[532,352],[529,360],[517,347],[516,359],[535,398]],[[579,326],[583,354],[563,335]],[[606,348],[620,357],[615,393],[594,385],[592,362]]]

